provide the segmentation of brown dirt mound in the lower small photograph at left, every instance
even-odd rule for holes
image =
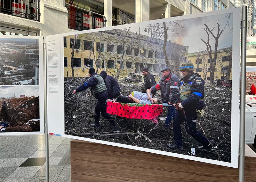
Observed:
[[[4,120],[11,123],[5,132],[40,131],[39,96],[8,99],[4,112]]]

